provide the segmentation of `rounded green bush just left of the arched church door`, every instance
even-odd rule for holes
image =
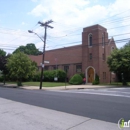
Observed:
[[[83,79],[80,74],[75,74],[69,81],[70,84],[78,85],[83,83]]]

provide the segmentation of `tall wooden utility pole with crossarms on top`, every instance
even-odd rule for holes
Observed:
[[[43,71],[44,71],[44,60],[45,60],[45,47],[46,47],[46,37],[47,37],[47,27],[53,28],[52,26],[48,25],[52,23],[52,20],[49,20],[45,23],[38,22],[41,27],[45,27],[45,33],[44,33],[44,45],[43,45],[43,53],[42,53],[42,65],[41,65],[41,79],[40,79],[40,89],[42,89],[42,80],[43,80]]]

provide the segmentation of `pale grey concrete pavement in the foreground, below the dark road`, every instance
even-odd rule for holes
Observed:
[[[118,125],[0,98],[1,130],[119,130]]]

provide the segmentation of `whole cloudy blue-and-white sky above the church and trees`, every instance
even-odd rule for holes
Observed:
[[[130,39],[130,0],[1,0],[0,49],[12,53],[34,43],[42,51],[44,27],[38,21],[52,20],[47,29],[46,50],[82,44],[83,28],[100,24],[107,28],[118,48]]]

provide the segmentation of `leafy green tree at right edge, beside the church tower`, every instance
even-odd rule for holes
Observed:
[[[108,57],[107,63],[110,71],[115,72],[119,79],[130,80],[130,44],[115,49]]]

